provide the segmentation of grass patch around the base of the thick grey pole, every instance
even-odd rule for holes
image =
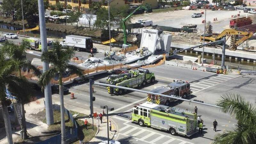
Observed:
[[[43,115],[43,117],[41,117],[41,121],[43,123],[46,123],[45,109],[43,111],[39,112],[37,115],[38,116]],[[50,125],[48,127],[48,130],[49,131],[61,131],[61,128],[60,128],[60,110],[56,110],[56,109],[53,110],[53,119],[54,119],[54,124]],[[74,126],[73,122],[69,119],[68,115],[65,114],[65,128],[66,128],[66,130],[68,130],[68,128],[73,127],[73,126]]]

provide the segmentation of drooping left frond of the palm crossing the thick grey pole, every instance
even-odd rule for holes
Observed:
[[[42,90],[44,87],[49,84],[49,82],[52,80],[52,78],[55,77],[55,74],[59,73],[59,70],[56,67],[50,67],[47,71],[45,71],[38,80],[38,85],[42,87]]]

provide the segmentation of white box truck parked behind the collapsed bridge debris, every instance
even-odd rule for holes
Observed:
[[[96,48],[93,48],[92,45],[92,37],[87,36],[76,36],[76,35],[68,35],[66,36],[66,39],[63,39],[62,42],[60,42],[60,45],[65,47],[74,47],[78,52],[79,51],[91,51],[95,53],[97,52]]]

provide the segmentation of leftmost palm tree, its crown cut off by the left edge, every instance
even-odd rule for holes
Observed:
[[[32,86],[28,83],[25,77],[15,76],[15,62],[10,59],[6,60],[5,52],[0,49],[0,102],[3,108],[3,117],[5,124],[5,132],[9,144],[12,144],[12,128],[8,113],[8,106],[11,104],[9,99],[6,99],[6,88],[12,95],[17,96],[19,93],[28,94],[33,91]]]

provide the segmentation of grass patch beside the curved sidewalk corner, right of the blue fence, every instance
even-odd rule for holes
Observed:
[[[84,143],[89,142],[90,140],[92,140],[92,138],[95,136],[96,132],[97,132],[97,126],[94,125],[94,130],[92,131],[92,124],[88,123],[87,128],[88,130],[85,129],[84,126],[84,121],[82,120],[76,120],[77,122],[77,126],[78,126],[78,138],[84,139]],[[80,134],[80,135],[79,135]],[[74,142],[74,144],[79,144],[79,140]]]

